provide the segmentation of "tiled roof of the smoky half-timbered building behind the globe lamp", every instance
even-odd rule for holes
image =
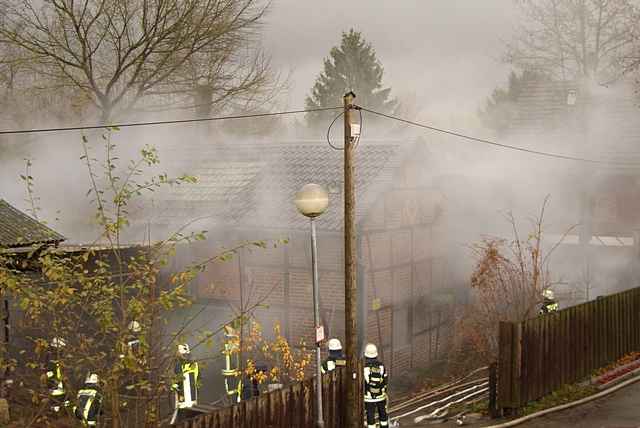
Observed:
[[[409,141],[362,142],[356,150],[356,220],[391,185],[402,160],[415,149]],[[178,225],[207,217],[217,226],[303,229],[308,220],[294,206],[307,183],[329,191],[330,204],[318,228],[342,230],[343,153],[326,141],[233,144],[173,151],[169,158],[198,177],[175,187],[158,204],[156,222]]]

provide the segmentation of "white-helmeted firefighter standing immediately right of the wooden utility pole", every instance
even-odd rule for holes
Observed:
[[[389,426],[387,416],[387,368],[378,360],[378,348],[373,343],[364,348],[364,406],[367,427],[376,426],[376,409],[381,427]]]

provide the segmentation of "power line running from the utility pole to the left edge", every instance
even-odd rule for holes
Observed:
[[[63,128],[17,129],[17,130],[9,130],[9,131],[0,131],[0,135],[36,134],[36,133],[43,133],[43,132],[82,131],[82,130],[89,130],[89,129],[131,128],[134,126],[174,125],[179,123],[213,122],[218,120],[250,119],[250,118],[256,118],[256,117],[282,116],[282,115],[298,114],[298,113],[311,113],[316,111],[338,110],[342,108],[343,107],[325,107],[325,108],[315,108],[315,109],[305,109],[305,110],[278,111],[274,113],[256,113],[256,114],[243,114],[243,115],[235,115],[235,116],[205,117],[205,118],[199,118],[199,119],[158,120],[154,122],[114,123],[111,125],[71,126],[71,127],[63,127]]]

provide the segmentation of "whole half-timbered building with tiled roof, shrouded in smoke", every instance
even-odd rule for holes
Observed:
[[[176,172],[196,175],[155,202],[156,231],[190,219],[209,239],[180,251],[173,266],[210,255],[221,244],[287,238],[287,245],[243,251],[201,275],[201,303],[228,308],[264,299],[266,325],[280,322],[291,343],[313,343],[308,219],[294,206],[306,183],[328,190],[317,219],[321,316],[329,336],[344,332],[343,158],[326,142],[212,145],[169,156]],[[428,367],[451,337],[456,290],[440,227],[444,198],[429,173],[424,141],[363,141],[356,151],[359,342],[377,343],[394,375]]]

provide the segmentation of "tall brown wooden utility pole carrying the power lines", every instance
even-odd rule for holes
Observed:
[[[345,94],[344,101],[344,328],[347,351],[347,428],[362,426],[359,398],[357,397],[360,373],[356,326],[356,198],[353,167],[354,141],[351,138],[351,109],[355,94]]]

